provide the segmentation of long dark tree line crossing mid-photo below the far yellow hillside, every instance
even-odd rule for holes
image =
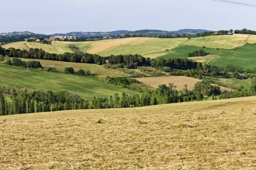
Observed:
[[[0,47],[0,54],[7,55],[9,57],[19,57],[19,58],[33,58],[33,59],[43,59],[43,60],[53,60],[53,61],[66,61],[75,63],[95,63],[95,64],[123,64],[127,68],[135,69],[137,66],[153,66],[162,67],[168,66],[173,69],[195,69],[197,65],[202,65],[202,63],[194,62],[188,60],[187,58],[170,58],[168,60],[150,60],[150,58],[145,58],[138,54],[129,55],[110,55],[107,57],[102,57],[97,54],[90,53],[48,53],[39,48],[30,48],[29,50],[20,50],[15,48],[2,48]]]

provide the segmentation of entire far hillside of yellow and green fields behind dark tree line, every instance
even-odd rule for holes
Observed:
[[[87,42],[53,41],[52,45],[21,41],[5,44],[3,47],[42,48],[50,53],[72,53],[68,46],[74,44],[83,52],[97,53],[101,56],[138,53],[149,58],[187,57],[188,53],[203,47],[211,56],[191,59],[216,66],[232,63],[243,68],[253,68],[256,65],[254,43],[255,35],[234,34],[192,38],[189,41],[187,38],[121,38]]]

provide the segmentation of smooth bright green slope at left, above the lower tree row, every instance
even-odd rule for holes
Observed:
[[[61,74],[44,72],[30,69],[27,72],[25,68],[14,67],[0,64],[0,84],[16,86],[18,88],[52,90],[52,91],[70,91],[83,98],[88,96],[110,96],[114,93],[136,94],[136,92],[124,89],[112,84],[99,81],[96,78],[76,76],[71,74]]]

